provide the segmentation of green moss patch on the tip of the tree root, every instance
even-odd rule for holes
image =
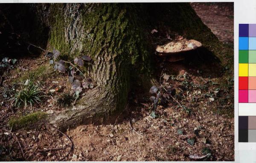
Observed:
[[[11,117],[8,124],[13,129],[18,129],[18,128],[31,126],[45,117],[47,117],[47,115],[44,112],[34,112],[32,114],[28,114],[25,116]]]

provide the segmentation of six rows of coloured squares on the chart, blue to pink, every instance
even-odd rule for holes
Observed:
[[[239,24],[239,103],[256,103],[256,24]]]

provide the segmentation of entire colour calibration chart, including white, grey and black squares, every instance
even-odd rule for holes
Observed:
[[[239,142],[256,142],[256,24],[239,24]]]

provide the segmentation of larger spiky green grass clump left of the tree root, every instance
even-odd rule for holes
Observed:
[[[20,107],[24,106],[26,108],[29,104],[32,107],[35,103],[41,103],[41,98],[44,97],[44,92],[40,91],[41,89],[26,80],[26,83],[22,83],[20,90],[15,93],[15,96],[12,98],[14,106]]]

